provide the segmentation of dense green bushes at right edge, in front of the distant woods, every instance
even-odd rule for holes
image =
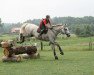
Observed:
[[[94,36],[94,25],[82,24],[74,26],[74,32],[78,36],[89,37]]]

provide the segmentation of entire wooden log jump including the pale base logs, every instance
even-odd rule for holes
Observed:
[[[4,53],[2,57],[2,61],[21,61],[21,56],[19,54],[23,54],[23,58],[39,58],[40,55],[37,53],[36,46],[18,46],[13,47],[11,43],[2,42],[1,43]]]

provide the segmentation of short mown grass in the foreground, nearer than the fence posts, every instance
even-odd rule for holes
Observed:
[[[51,51],[42,51],[40,59],[19,63],[0,62],[0,75],[94,75],[94,52],[65,52],[54,60]]]

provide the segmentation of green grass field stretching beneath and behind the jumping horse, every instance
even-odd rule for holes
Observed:
[[[4,38],[4,37],[7,38]],[[4,35],[2,38],[9,39]],[[94,42],[94,37],[91,38]],[[21,62],[0,61],[0,75],[94,75],[94,48],[89,50],[90,38],[58,37],[65,55],[60,55],[56,48],[59,60],[54,60],[53,52],[48,43],[43,42],[44,50],[40,52],[40,59],[23,59]],[[27,45],[34,41],[26,42]],[[38,41],[39,43],[39,41]],[[93,45],[94,46],[94,45]],[[38,49],[40,45],[38,45]],[[0,57],[3,50],[0,48]],[[1,58],[0,58],[1,60]]]

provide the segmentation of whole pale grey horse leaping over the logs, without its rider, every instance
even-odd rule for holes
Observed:
[[[63,50],[61,49],[60,45],[55,41],[57,35],[63,30],[63,33],[67,35],[67,37],[70,37],[70,32],[68,30],[68,27],[64,25],[53,25],[51,28],[48,28],[48,31],[46,34],[42,34],[41,38],[38,37],[39,33],[37,32],[38,26],[35,24],[25,23],[20,28],[20,34],[19,34],[19,41],[22,43],[24,42],[25,37],[31,37],[34,36],[35,38],[42,40],[42,41],[48,41],[49,44],[52,47],[54,57],[55,59],[58,59],[58,56],[56,55],[55,46],[59,48],[60,54],[64,55]]]

